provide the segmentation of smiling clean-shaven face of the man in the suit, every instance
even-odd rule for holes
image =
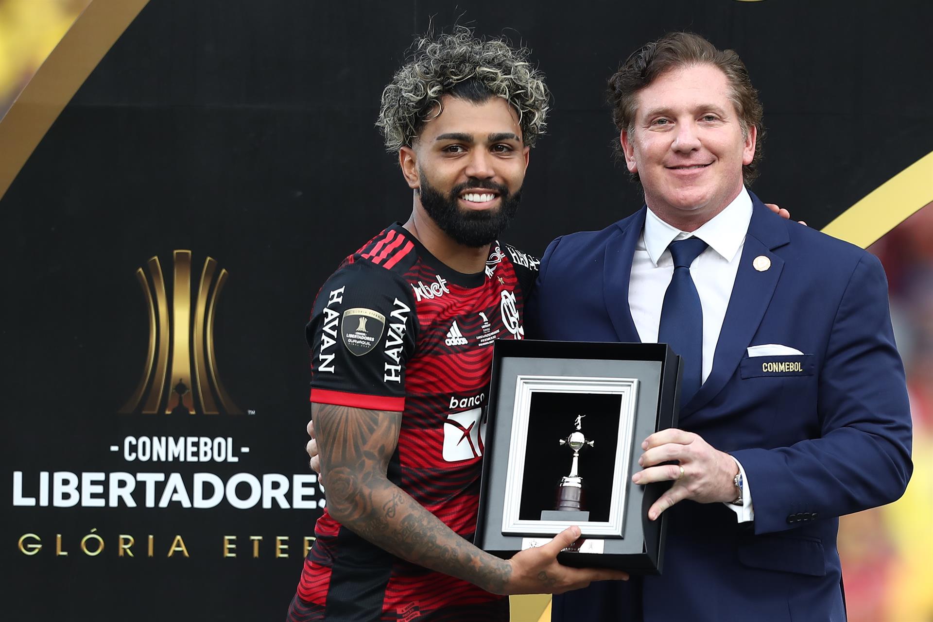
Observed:
[[[755,156],[756,129],[743,135],[717,67],[678,67],[637,95],[632,131],[620,140],[652,212],[692,231],[721,212],[742,189],[742,167]]]

